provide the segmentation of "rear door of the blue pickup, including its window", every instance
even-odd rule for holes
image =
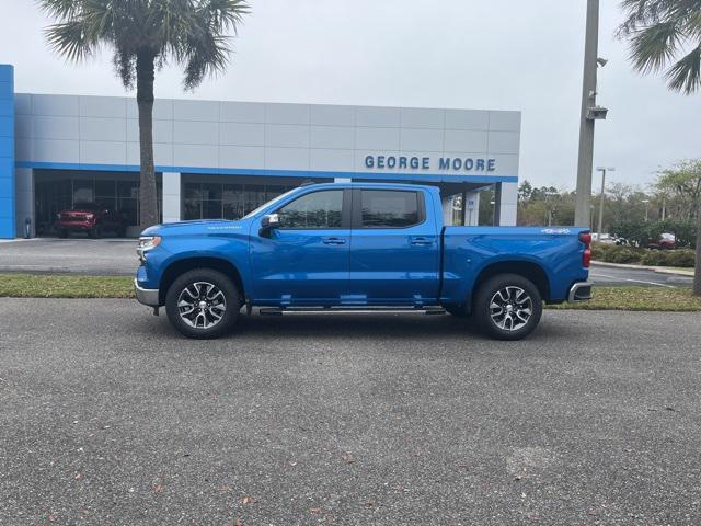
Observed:
[[[422,192],[354,191],[350,297],[357,304],[436,301],[440,237],[427,204]]]

